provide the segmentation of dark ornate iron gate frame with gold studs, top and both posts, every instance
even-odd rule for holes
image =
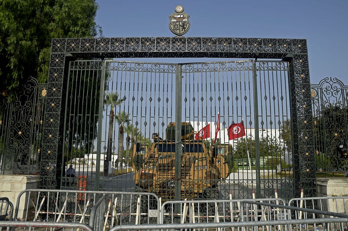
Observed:
[[[316,195],[313,119],[306,39],[129,37],[53,39],[41,157],[41,188],[59,188],[64,119],[62,100],[70,60],[104,58],[259,58],[289,62],[292,154],[296,196]],[[306,123],[304,123],[306,121]],[[49,151],[49,152],[48,152]]]

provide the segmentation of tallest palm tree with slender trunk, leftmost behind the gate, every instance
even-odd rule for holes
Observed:
[[[113,122],[114,122],[114,108],[120,105],[124,98],[120,98],[118,92],[111,92],[105,94],[104,105],[106,107],[110,106],[109,114],[109,132],[108,132],[108,149],[106,150],[106,158],[104,160],[104,175],[108,175],[109,172],[109,162],[111,161],[111,150],[112,150],[112,132],[113,132]],[[106,162],[106,163],[105,163]]]

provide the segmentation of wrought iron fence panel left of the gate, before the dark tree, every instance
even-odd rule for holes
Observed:
[[[0,174],[40,172],[42,124],[47,84],[30,77],[0,111]]]

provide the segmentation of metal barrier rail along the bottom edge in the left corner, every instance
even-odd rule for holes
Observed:
[[[7,227],[7,229],[11,228],[24,228],[32,230],[32,228],[40,228],[40,231],[44,230],[53,230],[53,229],[69,229],[69,230],[85,230],[85,231],[93,231],[88,225],[79,224],[79,223],[65,223],[65,222],[34,222],[34,221],[0,221],[0,228]]]

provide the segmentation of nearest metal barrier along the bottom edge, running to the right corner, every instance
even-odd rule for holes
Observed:
[[[338,224],[330,231],[343,231],[348,218],[317,218],[317,219],[296,219],[296,220],[268,220],[268,221],[244,221],[244,222],[214,222],[214,223],[186,223],[186,224],[145,224],[145,225],[119,225],[109,231],[120,230],[195,230],[195,231],[301,231],[301,230],[323,230],[329,223]],[[313,225],[308,229],[309,225]],[[303,228],[307,227],[307,229]],[[236,229],[235,229],[236,228]],[[325,231],[329,231],[325,229]]]

